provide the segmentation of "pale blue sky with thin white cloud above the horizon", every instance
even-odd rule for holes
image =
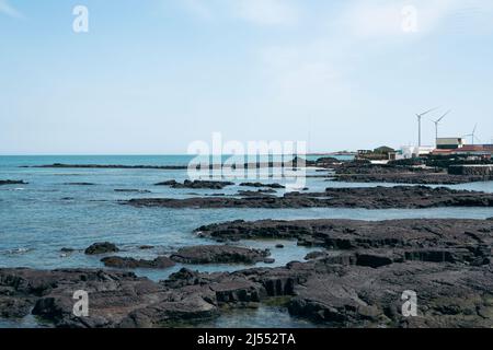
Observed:
[[[77,33],[73,9],[89,11]],[[0,0],[0,154],[493,139],[490,0]]]

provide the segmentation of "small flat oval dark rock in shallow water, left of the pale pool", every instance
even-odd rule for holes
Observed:
[[[263,261],[268,255],[268,250],[228,245],[200,245],[181,248],[170,258],[182,264],[255,264]]]

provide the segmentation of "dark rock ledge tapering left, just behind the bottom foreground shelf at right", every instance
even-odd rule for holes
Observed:
[[[485,265],[493,246],[493,224],[488,220],[238,220],[196,232],[221,242],[296,238],[299,245],[358,252],[355,264],[369,267],[404,260]],[[307,259],[321,255],[312,253]]]

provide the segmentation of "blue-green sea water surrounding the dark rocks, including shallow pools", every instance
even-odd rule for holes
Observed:
[[[184,180],[186,171],[162,170],[91,170],[91,168],[35,168],[22,167],[51,163],[123,164],[123,165],[186,165],[190,155],[134,155],[134,156],[0,156],[0,179],[23,179],[27,185],[0,186],[0,267],[32,267],[38,269],[88,267],[101,268],[101,257],[85,256],[83,249],[94,242],[110,241],[123,248],[122,255],[153,258],[183,246],[213,244],[197,237],[193,230],[208,223],[229,220],[259,219],[360,219],[385,220],[403,218],[471,218],[493,217],[493,208],[436,208],[426,210],[364,210],[364,209],[164,209],[123,206],[122,200],[138,197],[184,198],[219,192],[236,194],[239,186],[222,190],[172,189],[154,186],[168,179]],[[322,172],[309,171],[309,175]],[[239,184],[242,180],[237,180]],[[270,180],[262,180],[270,182]],[[76,186],[69,183],[93,183],[94,186]],[[326,187],[392,186],[391,184],[344,184],[320,177],[308,177],[310,190]],[[451,186],[492,192],[493,183],[474,183]],[[149,194],[117,192],[115,189],[149,190]],[[282,195],[283,191],[279,191]],[[275,248],[283,243],[285,248]],[[302,261],[313,250],[299,247],[296,242],[260,241],[239,244],[270,248],[275,264]],[[140,245],[153,245],[140,250]],[[60,254],[62,247],[78,249]],[[257,266],[266,266],[259,264]],[[137,270],[136,273],[153,280],[165,279],[181,265],[167,270]],[[186,266],[203,271],[231,271],[246,268],[238,265]],[[262,326],[265,315],[279,313],[275,326],[299,327],[303,322],[293,319],[275,308],[226,315],[216,325]],[[30,326],[30,320],[1,322],[0,327]]]

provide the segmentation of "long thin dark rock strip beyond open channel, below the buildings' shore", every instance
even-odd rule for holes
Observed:
[[[282,197],[248,194],[241,197],[135,198],[134,207],[161,208],[365,208],[420,209],[437,207],[492,207],[493,194],[425,186],[326,188],[323,192],[287,192]]]

